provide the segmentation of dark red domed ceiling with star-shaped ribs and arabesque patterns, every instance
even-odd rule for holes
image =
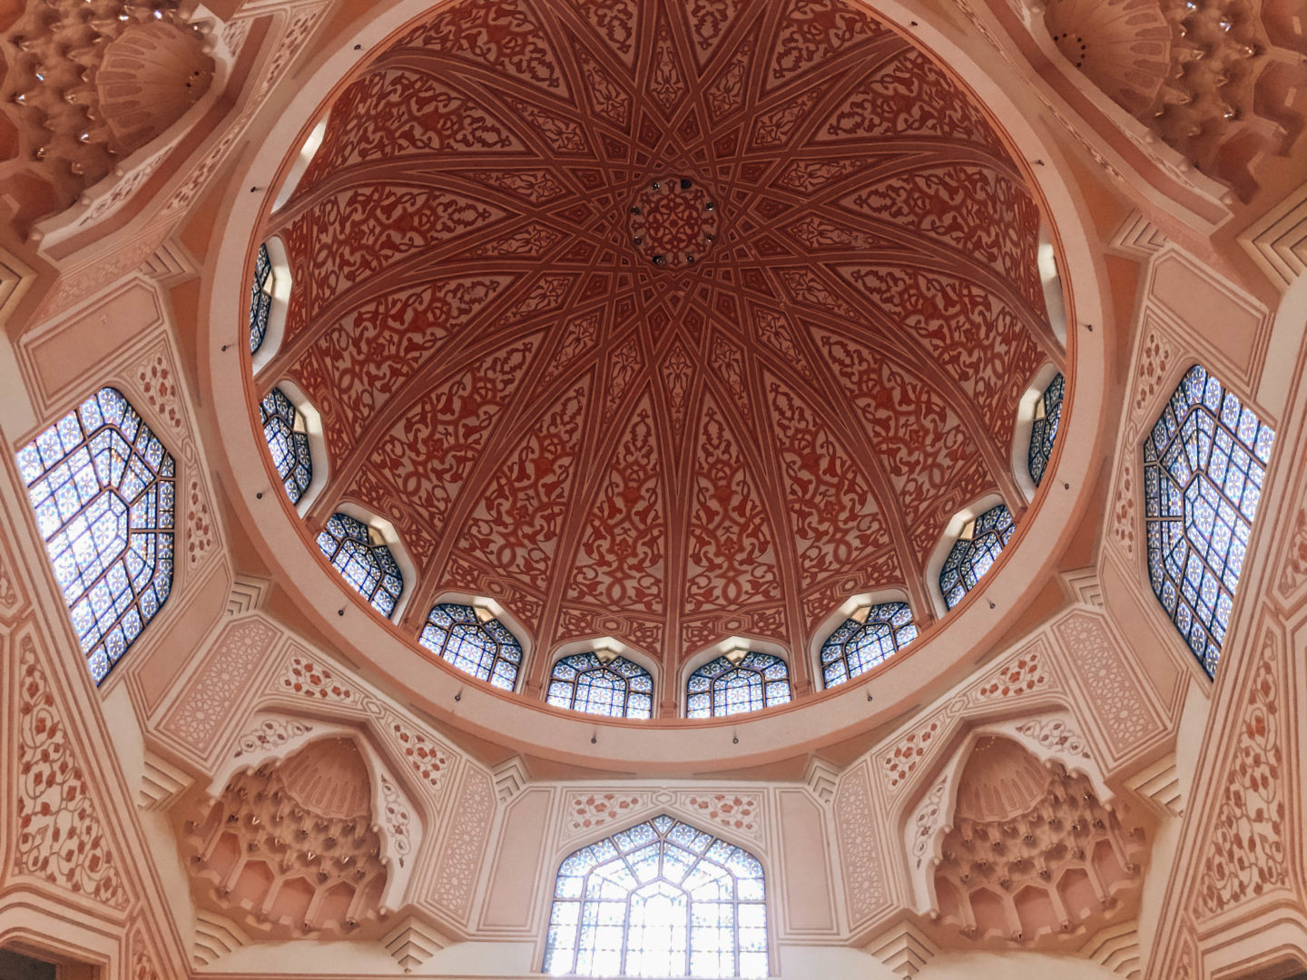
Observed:
[[[1019,511],[1017,402],[1063,354],[1039,208],[984,111],[853,3],[464,0],[342,89],[272,217],[263,391],[389,519],[406,617],[499,598],[537,651],[796,655]]]

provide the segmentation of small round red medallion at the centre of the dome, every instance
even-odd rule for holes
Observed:
[[[718,205],[707,188],[687,176],[651,180],[631,203],[631,244],[663,269],[703,261],[718,237]]]

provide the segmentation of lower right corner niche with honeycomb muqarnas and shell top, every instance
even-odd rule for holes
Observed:
[[[951,946],[1077,946],[1133,919],[1145,830],[1093,783],[1002,737],[976,741],[933,866],[941,939]]]

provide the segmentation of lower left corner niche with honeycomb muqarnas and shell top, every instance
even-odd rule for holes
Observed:
[[[196,904],[261,939],[379,936],[388,870],[372,798],[349,738],[234,774],[183,825]]]

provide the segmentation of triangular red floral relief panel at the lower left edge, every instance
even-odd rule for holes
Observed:
[[[18,834],[14,869],[125,909],[127,886],[90,776],[30,636],[18,642]]]

